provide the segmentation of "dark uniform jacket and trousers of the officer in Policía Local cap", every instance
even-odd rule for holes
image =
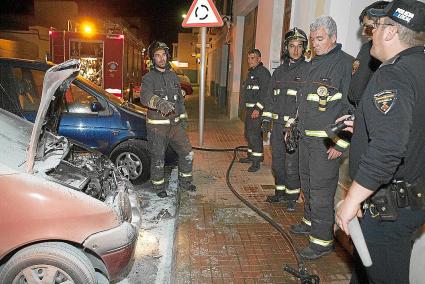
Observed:
[[[406,181],[417,194],[425,191],[424,71],[424,48],[409,48],[384,62],[367,86],[356,111],[350,175],[369,190]],[[424,209],[396,210],[395,221],[380,222],[373,207],[361,221],[373,262],[367,272],[376,283],[408,282],[411,237],[425,223]]]

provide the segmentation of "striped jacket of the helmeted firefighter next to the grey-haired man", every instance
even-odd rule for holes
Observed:
[[[265,99],[263,120],[273,120],[284,126],[294,121],[297,114],[297,94],[305,84],[305,70],[308,63],[300,60],[289,63],[289,60],[280,65],[272,75]]]

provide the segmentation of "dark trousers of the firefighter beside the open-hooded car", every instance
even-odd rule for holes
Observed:
[[[147,125],[148,149],[151,158],[151,182],[157,191],[165,189],[164,157],[170,145],[178,155],[179,181],[192,181],[193,152],[181,125]]]

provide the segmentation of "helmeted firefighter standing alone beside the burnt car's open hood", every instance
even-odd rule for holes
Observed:
[[[151,182],[159,197],[166,197],[164,155],[170,145],[178,154],[179,187],[195,191],[192,184],[193,152],[186,135],[187,113],[180,81],[170,70],[169,49],[163,42],[148,48],[152,68],[143,77],[141,103],[148,107],[146,128],[151,157]]]

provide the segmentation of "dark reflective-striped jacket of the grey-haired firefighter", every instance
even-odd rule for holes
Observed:
[[[351,112],[347,93],[352,64],[353,57],[341,50],[341,44],[310,61],[298,111],[302,136],[327,138],[325,128]],[[328,146],[340,152],[349,147],[349,143],[338,136],[333,142],[325,140],[330,142]]]

